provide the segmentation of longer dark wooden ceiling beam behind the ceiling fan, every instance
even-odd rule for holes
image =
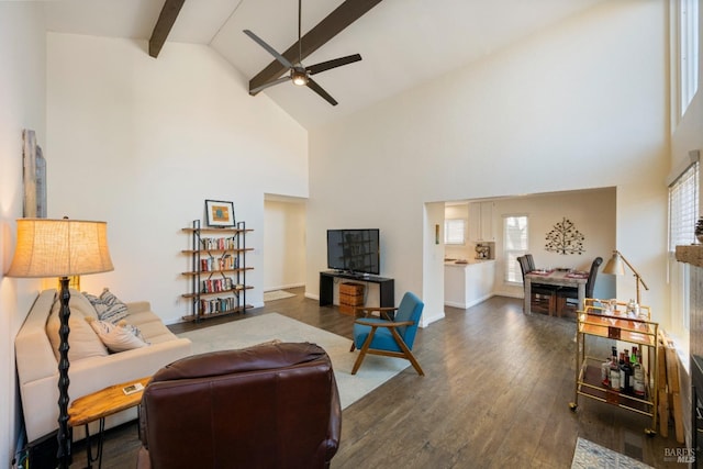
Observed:
[[[283,57],[291,64],[297,64],[299,60],[305,59],[305,57],[317,51],[381,1],[382,0],[346,0],[302,37],[302,57],[299,57],[298,41],[282,54]],[[256,89],[280,77],[286,71],[287,68],[281,63],[278,60],[271,62],[265,69],[249,80],[249,90]]]

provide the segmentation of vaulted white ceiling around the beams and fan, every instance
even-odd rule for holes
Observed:
[[[290,82],[263,91],[312,129],[466,66],[605,0],[383,0],[303,60],[360,54],[315,75],[339,104]],[[613,1],[613,0],[609,0]],[[303,35],[342,0],[303,0]],[[46,1],[54,32],[148,40],[164,0]],[[186,0],[169,42],[207,44],[248,80],[274,58],[242,31],[282,53],[298,38],[298,0]],[[158,58],[156,58],[158,60]],[[252,97],[261,99],[261,97]]]

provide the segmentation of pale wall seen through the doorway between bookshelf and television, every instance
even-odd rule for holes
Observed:
[[[264,291],[305,284],[305,203],[264,201]]]

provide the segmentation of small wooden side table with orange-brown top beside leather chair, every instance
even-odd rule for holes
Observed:
[[[124,411],[130,407],[134,407],[142,402],[142,394],[144,390],[134,392],[132,394],[125,394],[123,389],[140,383],[143,388],[146,388],[146,383],[149,382],[152,377],[145,377],[120,384],[114,384],[92,394],[83,395],[71,402],[68,407],[68,425],[70,427],[85,425],[86,426],[86,451],[88,468],[92,467],[92,464],[98,461],[98,468],[102,467],[102,440],[105,428],[105,417],[118,412]],[[90,445],[90,432],[88,424],[94,421],[100,421],[100,431],[98,433],[98,448],[96,457],[92,457],[92,450]]]

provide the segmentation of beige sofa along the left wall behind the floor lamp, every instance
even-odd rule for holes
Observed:
[[[148,345],[110,353],[86,321],[88,316],[97,317],[96,309],[85,295],[71,290],[68,338],[68,393],[71,401],[108,386],[150,376],[163,366],[191,355],[190,340],[172,334],[150,311],[148,302],[126,303],[126,306],[124,321],[138,327]],[[29,442],[58,428],[58,310],[56,290],[40,293],[14,340]],[[105,418],[105,428],[136,417],[136,409],[123,411]],[[91,426],[91,433],[93,432]],[[83,436],[82,427],[74,429],[75,440]]]

